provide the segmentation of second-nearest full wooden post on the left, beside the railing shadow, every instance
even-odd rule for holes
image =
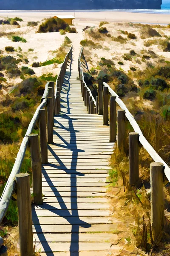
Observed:
[[[34,204],[43,204],[41,155],[38,134],[29,135]]]

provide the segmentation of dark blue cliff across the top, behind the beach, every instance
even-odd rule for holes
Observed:
[[[160,9],[162,0],[0,0],[0,10]]]

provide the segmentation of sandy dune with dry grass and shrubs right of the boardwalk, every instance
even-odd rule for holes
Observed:
[[[85,45],[85,79],[89,86],[107,82],[122,98],[138,122],[144,136],[162,159],[170,163],[170,55],[169,28],[131,23],[103,25],[88,29],[84,40],[92,40],[93,48]],[[101,29],[102,26],[100,26]],[[108,36],[109,35],[109,36]],[[102,49],[95,47],[100,44]],[[121,54],[120,54],[121,52]],[[166,55],[164,54],[166,52]],[[97,88],[96,88],[97,89]],[[114,218],[121,221],[115,233],[124,250],[119,255],[169,255],[169,182],[164,183],[165,227],[160,244],[154,244],[150,231],[150,163],[153,161],[141,147],[139,154],[140,182],[138,189],[128,185],[127,122],[125,153],[114,151],[110,172],[109,196],[113,201]],[[116,190],[116,192],[115,192]]]

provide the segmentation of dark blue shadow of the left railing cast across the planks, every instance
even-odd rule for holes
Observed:
[[[71,63],[72,63],[72,60],[71,60]],[[55,143],[53,144],[53,145],[61,146],[62,148],[64,147],[64,148],[70,149],[70,151],[72,152],[71,166],[70,166],[70,168],[65,166],[65,164],[62,162],[62,160],[59,159],[57,154],[54,152],[54,150],[50,146],[48,146],[48,149],[51,152],[52,156],[55,157],[55,159],[58,162],[57,164],[59,164],[59,165],[55,165],[55,164],[47,165],[47,166],[53,166],[56,169],[64,170],[66,175],[67,174],[69,175],[68,177],[70,177],[70,186],[71,186],[71,194],[70,194],[71,209],[72,209],[71,213],[67,209],[65,202],[64,202],[62,196],[60,195],[60,192],[58,191],[57,187],[54,186],[53,181],[51,181],[51,178],[48,176],[47,172],[45,171],[45,168],[44,169],[42,168],[42,169],[43,169],[43,174],[45,176],[45,180],[48,183],[48,186],[51,187],[52,192],[54,192],[54,195],[56,196],[57,201],[61,208],[61,209],[58,209],[58,208],[55,208],[55,207],[52,207],[49,205],[50,209],[48,209],[48,210],[53,212],[54,214],[57,214],[58,216],[60,216],[62,218],[65,218],[68,221],[68,224],[71,224],[70,255],[71,256],[79,256],[79,227],[89,228],[89,227],[91,227],[91,224],[88,224],[79,219],[78,206],[77,206],[77,176],[84,176],[84,174],[82,174],[81,172],[77,172],[77,158],[78,158],[78,153],[83,152],[83,150],[77,149],[76,131],[74,130],[74,126],[73,126],[74,119],[72,119],[70,116],[67,115],[67,114],[70,114],[70,105],[69,105],[68,95],[69,95],[69,90],[70,90],[69,79],[71,77],[71,63],[70,63],[70,71],[66,72],[65,80],[62,85],[62,93],[64,93],[64,94],[67,93],[67,97],[66,97],[67,107],[62,106],[62,104],[61,104],[61,108],[66,109],[66,112],[62,112],[63,116],[60,116],[64,119],[68,120],[68,125],[67,125],[68,128],[66,128],[60,122],[58,122],[56,120],[54,122],[55,128],[67,130],[68,132],[70,132],[71,139],[70,139],[70,143],[68,143],[62,136],[60,136],[56,131],[54,131],[54,134],[57,134],[58,138],[60,140],[62,140],[62,142],[65,143],[65,145],[60,145],[60,144],[55,144]],[[62,102],[64,102],[63,99],[61,100],[61,103]],[[45,167],[45,165],[44,165],[44,167]],[[67,176],[65,176],[65,177],[67,177]],[[63,186],[64,185],[65,184],[63,184]],[[50,248],[50,243],[48,243],[48,241],[45,240],[43,230],[41,229],[39,219],[35,212],[35,209],[38,209],[38,208],[47,209],[48,208],[47,206],[48,206],[48,204],[44,203],[40,207],[38,207],[38,206],[32,207],[32,216],[33,216],[33,222],[34,222],[37,236],[40,239],[40,241],[44,241],[42,243],[42,247],[43,247],[44,251],[47,253],[47,255],[49,253],[50,256],[53,256],[54,253],[52,252],[52,250]],[[47,218],[50,218],[50,217],[47,217]],[[57,233],[57,225],[55,225],[55,226],[56,226],[56,233]],[[64,235],[62,235],[62,236],[64,236]],[[55,240],[55,234],[54,234],[54,240]],[[63,247],[65,247],[64,243],[63,243]],[[63,248],[63,250],[64,250],[64,248]]]

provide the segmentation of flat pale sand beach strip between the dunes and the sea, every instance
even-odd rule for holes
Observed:
[[[15,17],[19,16],[24,20],[41,20],[43,18],[52,17],[54,15],[74,15],[74,10],[71,12],[61,11],[0,11],[0,17]],[[139,12],[115,12],[115,11],[77,11],[75,12],[76,23],[98,23],[101,20],[110,22],[140,22],[140,23],[170,23],[169,14],[150,14]]]

